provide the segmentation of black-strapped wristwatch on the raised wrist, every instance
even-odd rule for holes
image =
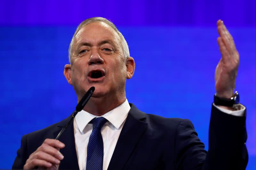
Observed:
[[[236,91],[235,94],[230,99],[227,99],[227,98],[218,97],[217,94],[215,93],[214,104],[220,105],[220,106],[233,107],[234,109],[237,109],[237,106],[239,104],[239,94]]]

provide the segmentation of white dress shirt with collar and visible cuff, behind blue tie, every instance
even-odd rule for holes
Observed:
[[[213,104],[220,111],[236,115],[243,116],[245,107],[242,105],[241,110],[230,111],[223,109]],[[124,126],[124,122],[127,118],[128,112],[130,110],[130,105],[126,99],[123,104],[109,111],[108,113],[102,115],[108,120],[102,129],[101,135],[103,139],[104,146],[104,156],[103,156],[103,170],[108,169],[110,159],[112,158],[113,152],[116,147],[117,140],[119,138],[120,132]],[[88,124],[93,118],[99,117],[92,115],[84,110],[78,112],[74,120],[74,134],[75,134],[75,144],[76,144],[76,154],[78,159],[78,166],[80,170],[86,169],[86,159],[87,159],[87,145],[89,142],[89,137],[92,133],[92,124]]]

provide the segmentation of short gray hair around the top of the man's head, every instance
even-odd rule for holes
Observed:
[[[108,19],[106,18],[102,18],[102,17],[93,17],[93,18],[88,18],[88,19],[85,19],[83,22],[81,22],[77,28],[76,28],[76,32],[74,33],[73,37],[72,37],[72,40],[69,44],[69,48],[68,48],[68,60],[69,60],[69,63],[71,63],[71,57],[72,57],[72,48],[73,48],[73,45],[74,45],[74,41],[75,41],[75,37],[76,37],[76,34],[78,33],[78,31],[83,28],[84,26],[90,24],[90,23],[93,23],[93,22],[104,22],[106,23],[107,25],[111,26],[115,31],[116,33],[119,35],[120,37],[120,41],[121,41],[121,45],[122,45],[122,48],[123,48],[123,52],[124,52],[124,57],[125,59],[127,59],[128,57],[130,57],[130,53],[129,53],[129,48],[128,48],[128,44],[126,42],[126,40],[124,39],[124,36],[122,35],[122,33],[116,28],[116,26]]]

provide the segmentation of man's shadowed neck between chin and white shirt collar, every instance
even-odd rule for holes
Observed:
[[[112,98],[109,96],[104,97],[91,97],[84,107],[84,111],[91,113],[95,116],[102,116],[108,113],[110,110],[120,106],[126,100],[125,95],[123,97]]]

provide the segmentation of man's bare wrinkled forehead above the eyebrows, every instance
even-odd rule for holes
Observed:
[[[90,43],[97,43],[104,39],[118,41],[118,34],[116,31],[104,22],[93,22],[82,27],[75,36],[75,44],[82,41],[90,41]]]

